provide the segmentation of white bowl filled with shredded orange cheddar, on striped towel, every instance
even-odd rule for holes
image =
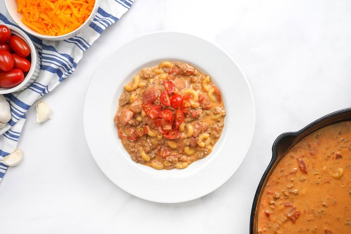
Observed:
[[[66,8],[66,6],[63,6],[63,1],[60,1],[61,4],[59,4],[59,1],[57,1],[54,2],[51,6],[46,6],[46,11],[42,7],[39,8],[39,4],[42,4],[41,1],[40,3],[38,3],[37,6],[28,6],[24,5],[26,4],[26,1],[5,0],[5,5],[12,19],[27,33],[36,36],[37,38],[45,40],[59,41],[72,38],[73,36],[82,32],[85,28],[87,28],[90,25],[99,7],[99,0],[94,1],[93,7],[91,3],[92,1],[94,0],[81,0],[81,3],[79,4],[77,4],[77,1],[74,1],[74,3],[77,5],[75,6],[75,8],[73,8],[73,10],[68,10],[69,7]],[[24,3],[21,6],[19,6],[18,2]],[[70,1],[68,0],[65,2]],[[90,7],[89,10],[84,10],[88,8],[86,6]],[[54,9],[49,7],[53,7]],[[23,10],[21,10],[21,8]],[[18,12],[18,9],[20,9],[20,12]],[[28,16],[22,17],[23,11],[26,11],[26,15]],[[38,11],[41,11],[42,13],[39,14]],[[31,12],[34,13],[31,14]],[[56,12],[59,13],[56,14]],[[88,15],[89,12],[90,14]],[[42,15],[44,17],[41,18],[39,15]],[[63,19],[62,17],[64,17],[65,20],[59,20],[56,17],[57,15],[60,15],[59,17],[61,19]],[[56,27],[54,27],[53,25],[55,25]],[[78,25],[80,26],[78,27]],[[41,26],[42,28],[39,28]],[[33,28],[36,28],[37,30],[34,30]]]

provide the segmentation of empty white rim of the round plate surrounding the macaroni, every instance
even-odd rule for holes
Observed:
[[[226,117],[211,154],[185,169],[159,171],[131,159],[113,118],[124,85],[142,68],[165,60],[184,61],[209,74],[223,94]],[[101,171],[126,192],[161,203],[194,200],[223,185],[250,149],[255,118],[249,82],[236,61],[207,40],[170,31],[139,36],[108,55],[90,81],[83,111],[86,141]]]

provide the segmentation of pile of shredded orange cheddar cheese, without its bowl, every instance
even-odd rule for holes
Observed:
[[[95,0],[17,0],[22,22],[43,35],[74,31],[91,14]]]

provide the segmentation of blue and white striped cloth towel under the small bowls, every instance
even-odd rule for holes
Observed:
[[[132,4],[133,0],[101,0],[89,27],[67,40],[47,41],[28,34],[41,57],[40,73],[37,80],[25,90],[4,95],[10,102],[12,118],[7,126],[0,129],[0,160],[16,148],[29,107],[71,75],[83,52],[99,38],[107,26],[117,22]],[[8,14],[4,0],[0,0],[0,23],[18,27]],[[0,181],[7,168],[0,162]]]

